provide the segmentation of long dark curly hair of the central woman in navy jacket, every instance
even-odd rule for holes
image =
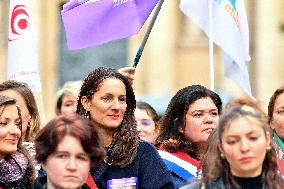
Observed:
[[[118,167],[125,167],[134,160],[139,145],[139,136],[134,117],[136,107],[135,95],[128,79],[112,68],[97,68],[84,79],[80,90],[77,113],[80,115],[89,115],[83,105],[82,97],[91,100],[103,81],[107,78],[115,78],[122,81],[126,88],[127,108],[119,128],[114,132],[111,145],[107,150],[106,162]]]

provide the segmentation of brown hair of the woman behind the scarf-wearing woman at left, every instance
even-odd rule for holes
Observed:
[[[28,111],[31,115],[31,123],[30,127],[27,128],[26,131],[26,137],[23,138],[23,141],[33,141],[36,134],[40,130],[40,116],[39,111],[37,108],[35,97],[29,88],[28,84],[24,82],[14,81],[14,80],[8,80],[4,81],[0,84],[0,92],[6,91],[6,90],[13,90],[18,92],[20,95],[22,95]]]

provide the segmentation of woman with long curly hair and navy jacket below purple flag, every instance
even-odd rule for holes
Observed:
[[[134,117],[135,95],[126,77],[110,68],[97,68],[83,81],[77,113],[98,130],[107,156],[91,169],[98,188],[116,182],[137,188],[173,188],[170,172],[155,148],[139,140]]]

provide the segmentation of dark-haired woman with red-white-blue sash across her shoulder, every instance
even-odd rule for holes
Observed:
[[[159,154],[171,170],[175,188],[197,176],[199,160],[222,111],[219,95],[204,86],[179,90],[160,120]]]

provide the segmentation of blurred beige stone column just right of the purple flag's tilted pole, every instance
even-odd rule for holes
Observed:
[[[142,61],[137,67],[135,88],[138,94],[159,96],[175,89],[175,55],[179,28],[178,6],[179,2],[177,1],[165,1],[162,6],[146,44]],[[150,20],[151,17],[152,15],[148,19]],[[144,35],[146,27],[140,32],[140,36]],[[138,42],[136,43],[137,48],[141,40],[142,37],[135,39],[135,42]],[[133,48],[132,45],[130,48]],[[132,54],[130,56],[134,57]]]

